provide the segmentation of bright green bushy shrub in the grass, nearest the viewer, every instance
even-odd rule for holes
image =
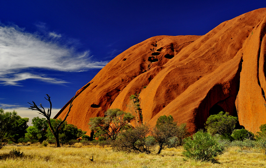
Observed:
[[[201,162],[217,163],[216,156],[223,154],[224,148],[208,132],[198,131],[193,137],[184,140],[182,154]]]

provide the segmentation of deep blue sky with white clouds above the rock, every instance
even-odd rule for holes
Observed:
[[[0,1],[0,107],[38,116],[25,111],[27,102],[47,107],[50,94],[60,109],[132,45],[158,35],[204,35],[264,7],[265,0]]]

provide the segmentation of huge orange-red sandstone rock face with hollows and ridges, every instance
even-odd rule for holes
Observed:
[[[225,21],[203,36],[156,36],[110,61],[76,93],[68,123],[88,130],[91,117],[120,108],[154,126],[161,115],[204,128],[220,111],[252,132],[266,123],[266,8]],[[130,95],[139,95],[142,111]],[[55,118],[63,118],[67,103]],[[142,119],[141,119],[142,118]]]

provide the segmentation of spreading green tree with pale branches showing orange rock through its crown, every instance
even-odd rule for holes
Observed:
[[[134,119],[130,113],[120,109],[108,109],[105,117],[90,118],[90,130],[100,132],[98,136],[105,136],[106,139],[115,140],[119,132],[127,128],[127,124]]]

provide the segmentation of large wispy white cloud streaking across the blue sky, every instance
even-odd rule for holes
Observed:
[[[39,24],[40,28],[45,23]],[[59,44],[61,34],[50,32],[45,38],[37,33],[28,33],[18,26],[0,25],[0,83],[19,85],[29,78],[49,83],[65,83],[45,74],[25,73],[29,68],[42,68],[64,72],[80,72],[90,68],[102,68],[107,62],[90,60],[89,51],[77,52],[74,46]],[[24,71],[24,72],[22,72]]]

